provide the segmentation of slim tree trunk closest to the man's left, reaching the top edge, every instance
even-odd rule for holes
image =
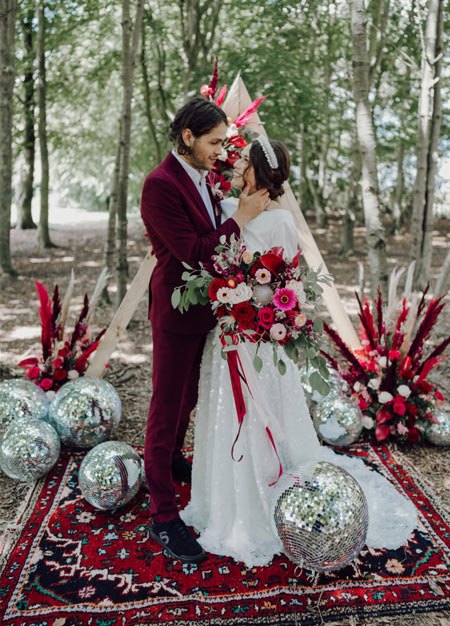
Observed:
[[[117,205],[117,306],[119,306],[127,291],[127,194],[131,141],[131,101],[133,98],[133,79],[136,69],[136,54],[141,33],[143,11],[144,0],[138,0],[136,6],[136,17],[134,20],[134,27],[132,32],[130,3],[129,0],[122,0],[123,102],[122,119],[120,124],[121,148]]]

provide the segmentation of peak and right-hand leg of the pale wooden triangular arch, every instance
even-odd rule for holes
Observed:
[[[240,74],[238,74],[230,87],[228,96],[225,99],[222,108],[229,117],[235,120],[238,115],[243,113],[245,109],[250,106],[251,103],[252,100],[249,96],[247,88],[244,85]],[[251,123],[248,124],[246,128],[267,137],[267,133],[257,113],[254,114]],[[284,184],[284,190],[285,193],[281,196],[279,203],[283,209],[292,213],[297,226],[298,240],[303,256],[305,257],[305,261],[309,267],[315,270],[317,270],[319,265],[322,264],[323,273],[330,274],[331,272],[327,269],[326,263],[323,260],[320,250],[317,247],[311,230],[306,223],[303,213],[298,206],[297,200],[295,199],[288,182]],[[339,297],[336,286],[334,283],[331,285],[323,285],[323,290],[323,300],[331,319],[333,320],[336,330],[350,348],[353,350],[360,348],[358,335],[356,334],[342,300]]]

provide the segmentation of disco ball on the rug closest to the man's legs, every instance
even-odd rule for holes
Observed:
[[[78,484],[89,504],[106,511],[127,504],[143,479],[143,463],[137,452],[127,443],[106,441],[84,457]]]

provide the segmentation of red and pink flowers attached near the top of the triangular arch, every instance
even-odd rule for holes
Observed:
[[[225,100],[227,86],[224,85],[220,89],[216,100],[214,100],[219,86],[217,65],[218,59],[216,57],[211,81],[209,85],[202,85],[200,87],[200,93],[207,100],[215,101],[218,106],[221,106]],[[239,159],[242,148],[245,148],[247,145],[241,133],[250,122],[252,115],[257,111],[259,105],[266,98],[267,96],[256,98],[234,122],[229,118],[230,125],[228,127],[227,138],[223,145],[222,155],[215,162],[212,172],[208,174],[208,184],[211,187],[213,195],[218,198],[218,200],[222,200],[229,194],[231,190],[231,179],[233,178],[233,166]]]

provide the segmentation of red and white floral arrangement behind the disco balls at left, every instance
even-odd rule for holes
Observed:
[[[27,358],[19,363],[25,370],[25,376],[44,391],[57,391],[64,383],[82,376],[88,366],[88,359],[97,349],[99,340],[106,329],[95,339],[90,338],[89,318],[93,307],[89,310],[89,298],[84,296],[81,312],[75,322],[71,334],[65,335],[65,324],[73,288],[73,277],[69,289],[61,304],[58,285],[55,285],[50,299],[47,289],[35,281],[39,296],[39,315],[41,318],[42,356]],[[101,285],[97,283],[92,302],[101,293]],[[103,284],[103,283],[102,283]]]

